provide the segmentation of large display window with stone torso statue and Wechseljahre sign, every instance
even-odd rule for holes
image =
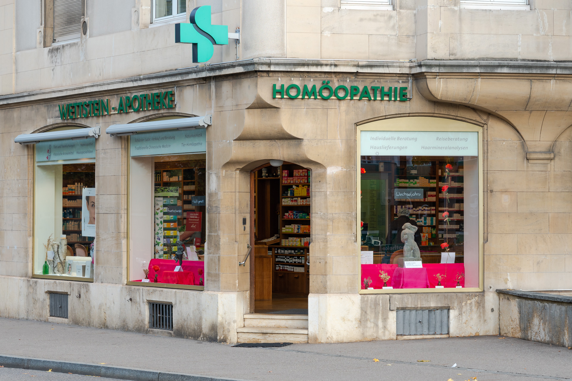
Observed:
[[[479,128],[463,125],[360,131],[362,290],[480,287]]]

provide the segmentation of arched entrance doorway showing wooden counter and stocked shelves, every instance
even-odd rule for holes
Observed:
[[[251,312],[308,314],[311,170],[272,161],[251,171]]]

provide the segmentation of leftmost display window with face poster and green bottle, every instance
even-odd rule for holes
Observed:
[[[35,145],[34,276],[93,281],[95,142],[64,139]]]

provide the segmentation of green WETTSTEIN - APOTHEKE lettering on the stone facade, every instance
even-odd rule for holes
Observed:
[[[119,98],[117,107],[110,107],[109,99],[94,99],[87,102],[67,103],[58,105],[59,118],[76,119],[88,117],[100,117],[102,115],[129,113],[130,111],[147,111],[172,109],[174,101],[173,91],[162,91],[140,95],[126,95]]]

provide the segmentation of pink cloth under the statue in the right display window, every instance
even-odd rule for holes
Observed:
[[[363,280],[367,278],[372,280],[370,287],[382,288],[380,271],[390,276],[387,285],[394,288],[434,288],[438,283],[435,276],[437,274],[444,276],[441,285],[451,288],[457,284],[457,274],[464,273],[464,263],[424,263],[423,268],[399,268],[396,264],[362,264],[362,290]],[[464,287],[464,279],[460,281],[460,285]]]

